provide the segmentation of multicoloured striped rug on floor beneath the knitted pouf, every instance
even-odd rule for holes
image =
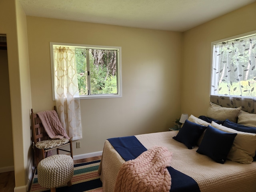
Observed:
[[[56,192],[102,192],[102,182],[98,174],[100,160],[74,164],[74,176],[72,186],[67,185],[56,188]],[[38,184],[37,171],[33,178],[30,192],[50,192]]]

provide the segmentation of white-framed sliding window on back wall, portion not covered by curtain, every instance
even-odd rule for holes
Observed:
[[[52,43],[75,52],[80,98],[121,97],[120,47]]]

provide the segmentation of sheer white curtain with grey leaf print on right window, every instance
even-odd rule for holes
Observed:
[[[256,35],[214,45],[211,102],[256,113]]]

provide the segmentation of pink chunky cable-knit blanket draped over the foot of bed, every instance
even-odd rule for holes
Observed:
[[[172,153],[165,147],[152,147],[120,167],[114,192],[169,192]]]

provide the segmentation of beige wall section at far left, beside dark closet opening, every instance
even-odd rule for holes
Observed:
[[[0,1],[0,34],[6,34],[12,113],[15,189],[25,192],[31,178],[31,96],[26,40],[26,16],[18,0]],[[11,160],[11,159],[10,159]]]

